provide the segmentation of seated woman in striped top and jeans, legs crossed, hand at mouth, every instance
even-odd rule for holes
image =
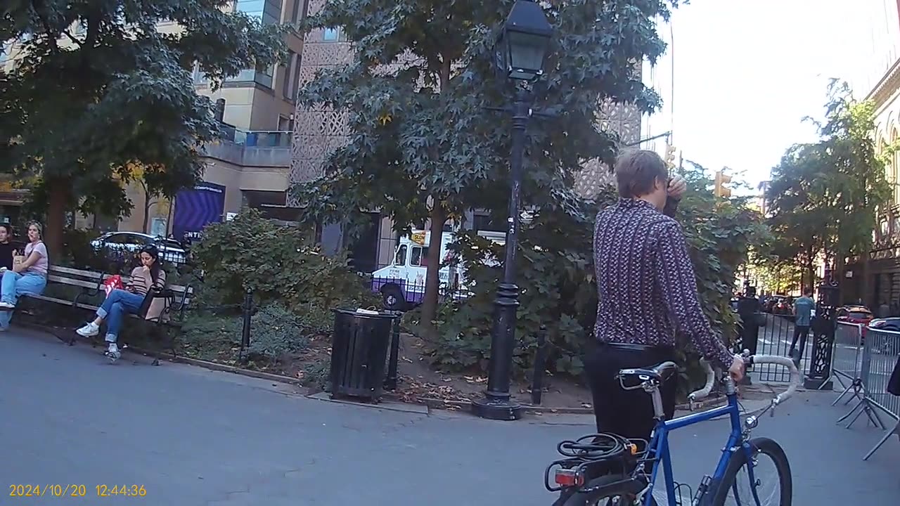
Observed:
[[[140,249],[140,267],[135,267],[131,271],[131,280],[124,290],[113,290],[103,301],[103,305],[97,308],[97,317],[94,321],[89,322],[81,329],[76,330],[79,336],[90,338],[100,333],[100,324],[106,320],[106,342],[109,343],[109,349],[105,355],[115,362],[121,357],[119,345],[116,341],[119,339],[119,330],[121,329],[122,318],[126,314],[138,314],[140,307],[147,298],[150,287],[161,290],[166,287],[166,271],[159,267],[159,251],[156,246],[148,245]],[[154,308],[155,303],[163,303],[165,301],[153,301],[150,305],[147,318],[153,318],[152,314],[156,309],[157,313],[160,308]],[[156,315],[158,317],[158,314]]]

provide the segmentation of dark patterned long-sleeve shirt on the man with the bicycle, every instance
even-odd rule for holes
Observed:
[[[677,221],[643,200],[622,199],[609,206],[594,226],[594,267],[600,342],[674,347],[680,332],[707,360],[725,369],[732,365],[734,355],[700,307]]]

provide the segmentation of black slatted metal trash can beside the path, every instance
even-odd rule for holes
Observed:
[[[337,309],[331,336],[331,396],[375,400],[382,394],[392,314]]]

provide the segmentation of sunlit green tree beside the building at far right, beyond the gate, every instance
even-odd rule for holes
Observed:
[[[846,83],[833,81],[820,140],[792,146],[771,171],[770,253],[805,266],[806,286],[815,285],[821,255],[868,252],[878,212],[887,211],[890,187],[872,139],[874,120],[874,104],[854,100]]]

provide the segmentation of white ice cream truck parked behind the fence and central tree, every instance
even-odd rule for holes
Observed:
[[[503,244],[502,233],[480,231],[478,235]],[[372,273],[372,290],[382,294],[385,308],[403,310],[422,302],[430,239],[431,232],[427,230],[413,230],[410,236],[401,237],[391,265]],[[441,293],[464,297],[467,290],[462,262],[455,261],[453,253],[447,248],[454,239],[453,232],[441,235],[441,265],[437,277]]]

